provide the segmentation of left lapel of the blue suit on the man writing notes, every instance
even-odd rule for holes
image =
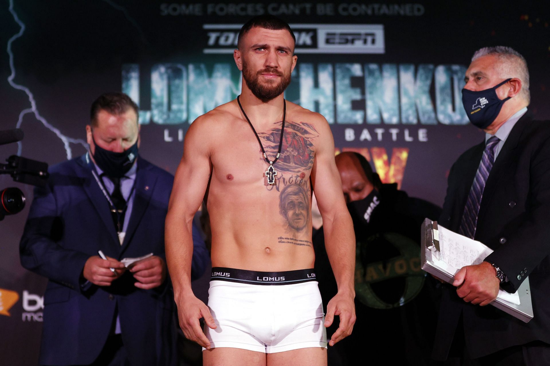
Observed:
[[[80,167],[78,175],[80,176],[80,178],[84,179],[84,191],[94,205],[97,214],[101,217],[103,224],[105,224],[107,232],[109,232],[109,235],[112,237],[114,243],[119,246],[118,236],[116,230],[114,229],[113,218],[111,217],[109,204],[107,202],[107,199],[105,198],[105,195],[103,195],[101,188],[98,186],[94,175],[92,174],[92,163],[88,163],[86,161],[86,155],[77,160],[77,162]]]

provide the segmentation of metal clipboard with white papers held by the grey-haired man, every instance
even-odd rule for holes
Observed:
[[[422,225],[422,269],[449,283],[460,268],[480,264],[492,252],[479,241],[438,226],[437,221],[426,219]],[[533,318],[529,279],[515,293],[500,290],[491,304],[527,323]]]

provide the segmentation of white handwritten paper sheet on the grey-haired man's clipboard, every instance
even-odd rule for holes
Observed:
[[[447,230],[441,225],[438,225],[438,231],[440,254],[439,260],[434,264],[437,264],[441,269],[452,275],[456,274],[465,265],[480,264],[483,262],[483,259],[493,252],[493,249],[487,247],[482,242],[456,234],[456,232]],[[514,304],[520,304],[517,292],[508,293],[499,290],[498,298]]]

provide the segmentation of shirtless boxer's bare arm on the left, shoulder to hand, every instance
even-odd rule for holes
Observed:
[[[202,332],[199,319],[216,328],[208,307],[191,290],[193,234],[191,224],[205,195],[210,178],[208,115],[197,118],[185,135],[182,161],[175,174],[165,224],[166,263],[178,306],[179,323],[185,336],[205,348],[210,342]]]

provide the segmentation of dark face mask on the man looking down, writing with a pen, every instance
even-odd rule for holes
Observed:
[[[124,174],[128,173],[128,170],[134,165],[138,157],[138,140],[136,140],[134,145],[121,153],[108,151],[99,147],[96,140],[94,140],[94,135],[92,135],[92,141],[94,141],[96,147],[94,160],[97,166],[103,170],[103,173],[113,178],[122,178]]]

